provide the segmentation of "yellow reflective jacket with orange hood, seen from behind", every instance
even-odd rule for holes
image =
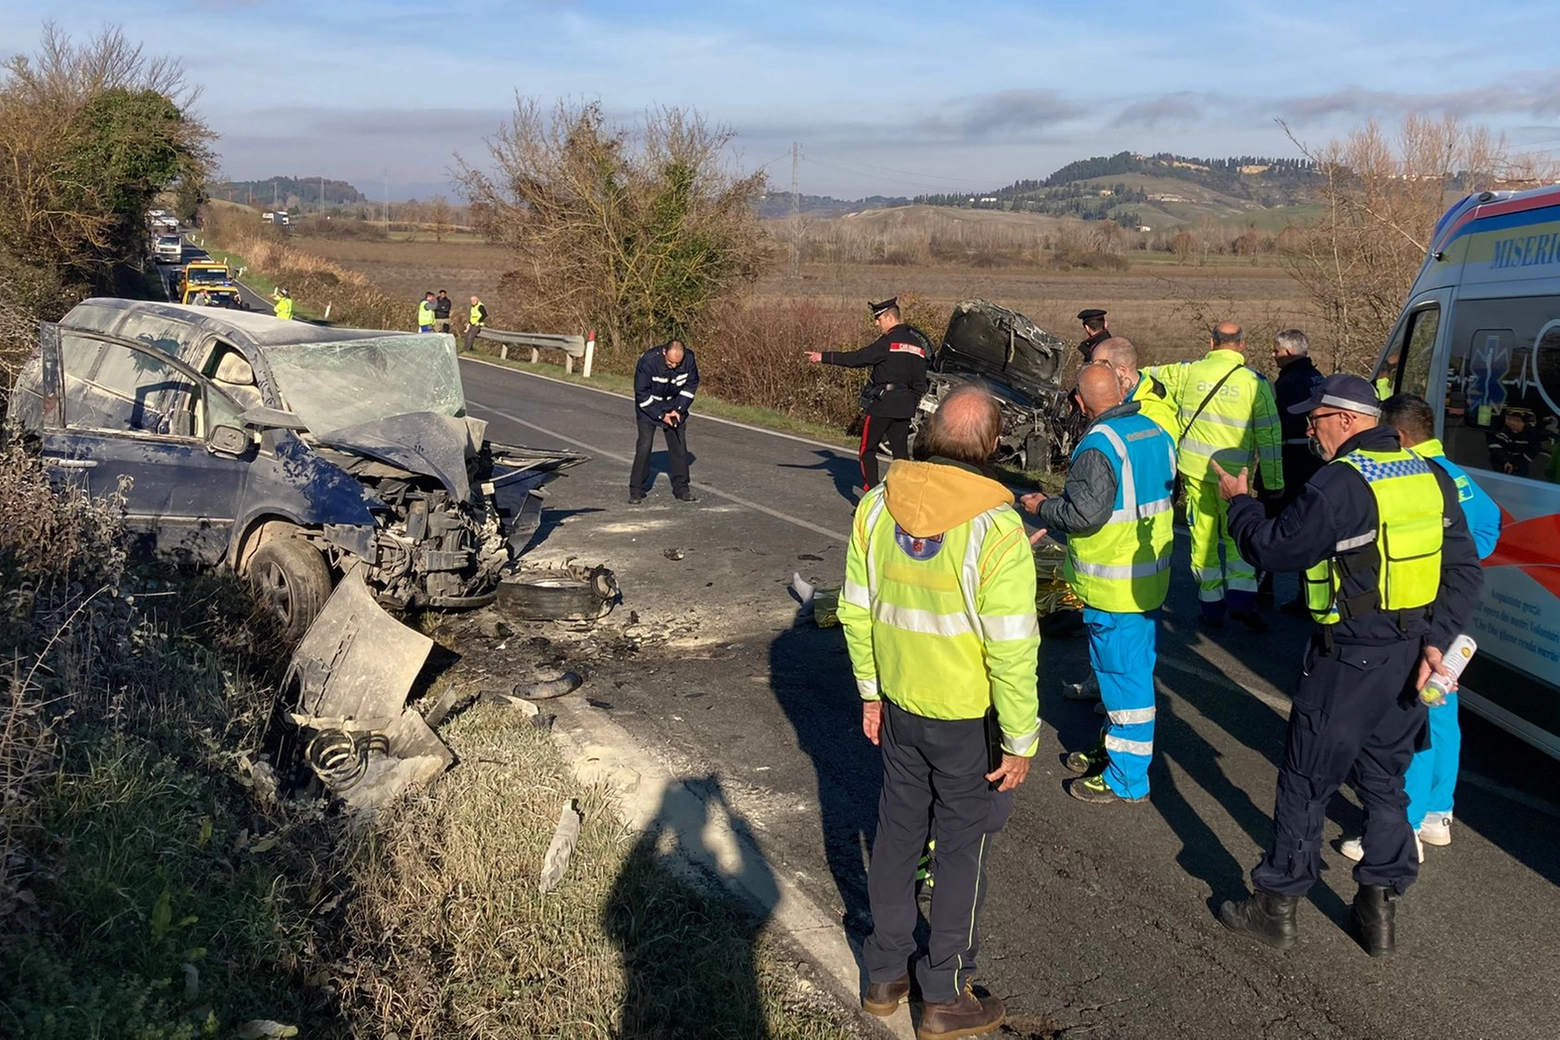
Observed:
[[[1034,555],[1012,493],[952,462],[906,462],[856,507],[839,622],[863,700],[928,719],[997,711],[1034,755],[1041,630]]]

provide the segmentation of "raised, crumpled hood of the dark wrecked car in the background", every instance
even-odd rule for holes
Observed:
[[[984,376],[1045,401],[1059,390],[1065,356],[1061,337],[1022,313],[984,299],[964,299],[953,309],[933,370]]]

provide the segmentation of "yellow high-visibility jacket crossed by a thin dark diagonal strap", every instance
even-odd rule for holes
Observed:
[[[1176,468],[1189,480],[1217,480],[1214,460],[1225,472],[1240,472],[1256,458],[1262,468],[1262,486],[1284,490],[1284,432],[1278,423],[1273,385],[1246,368],[1240,351],[1215,348],[1200,360],[1156,365],[1145,368],[1143,374],[1162,382],[1176,402],[1181,429]],[[1214,387],[1218,387],[1217,393]]]

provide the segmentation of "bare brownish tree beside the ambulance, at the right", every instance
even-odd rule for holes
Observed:
[[[1282,123],[1279,123],[1284,126]],[[1407,115],[1396,133],[1370,122],[1309,148],[1321,178],[1317,223],[1281,237],[1290,274],[1324,321],[1314,337],[1331,370],[1363,373],[1387,341],[1431,232],[1462,193],[1498,187],[1510,172],[1538,179],[1552,164],[1509,154],[1505,139],[1454,117]]]

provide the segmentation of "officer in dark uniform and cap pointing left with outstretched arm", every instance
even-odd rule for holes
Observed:
[[[877,485],[877,446],[888,440],[894,458],[909,458],[909,418],[916,415],[920,394],[927,393],[927,362],[931,340],[916,326],[899,320],[899,296],[880,304],[867,304],[880,335],[860,351],[808,351],[814,365],[844,368],[872,366],[867,385],[861,388],[861,480],[864,490]]]

